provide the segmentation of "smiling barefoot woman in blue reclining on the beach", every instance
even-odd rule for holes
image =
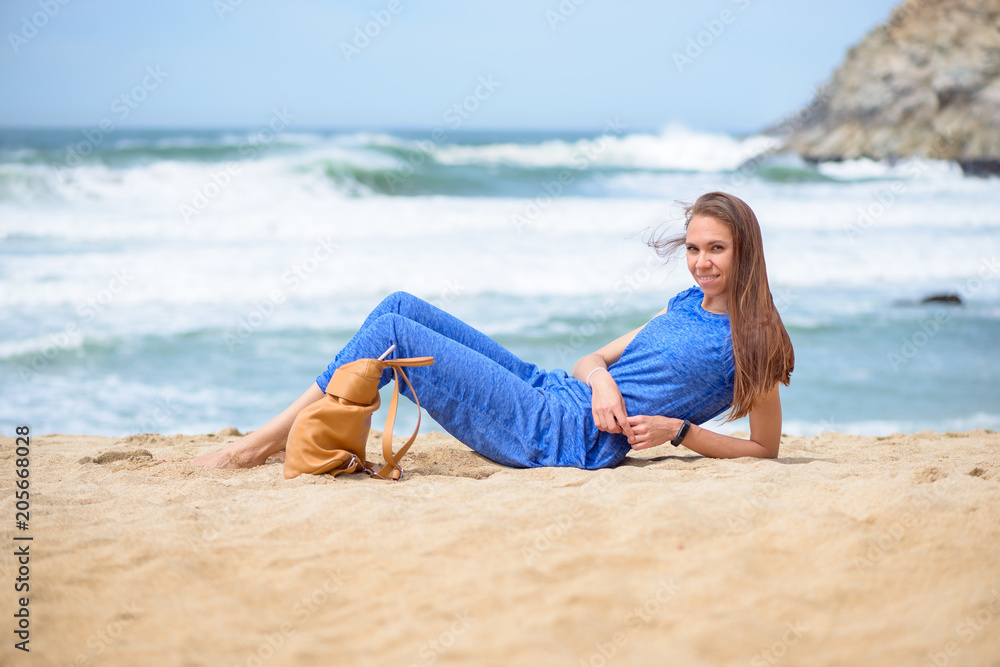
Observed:
[[[757,218],[722,192],[685,208],[685,233],[651,241],[661,256],[685,247],[696,286],[643,326],[582,357],[569,376],[527,363],[480,331],[405,292],[389,295],[302,396],[265,426],[190,462],[250,467],[281,452],[299,410],[324,395],[341,364],[432,356],[408,371],[420,404],[480,454],[513,467],[614,466],[630,449],[666,442],[710,457],[774,458],[779,383],[794,366],[771,298]],[[386,369],[379,387],[392,379]],[[413,400],[404,387],[401,393]],[[750,438],[698,426],[726,409],[750,416]]]

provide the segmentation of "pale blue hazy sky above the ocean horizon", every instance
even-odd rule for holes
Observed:
[[[749,133],[894,0],[3,0],[2,126]]]

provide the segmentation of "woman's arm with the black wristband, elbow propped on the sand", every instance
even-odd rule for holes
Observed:
[[[712,458],[778,458],[778,446],[781,444],[781,398],[778,396],[778,387],[778,383],[775,383],[774,388],[761,396],[750,411],[749,440],[722,435],[691,424],[682,444],[702,456]],[[658,415],[635,415],[628,418],[628,423],[635,434],[629,439],[632,449],[648,449],[677,437],[684,420]]]

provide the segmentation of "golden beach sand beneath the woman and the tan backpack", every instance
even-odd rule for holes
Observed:
[[[34,539],[0,664],[1000,664],[1000,434],[587,472],[431,432],[395,484],[161,461],[235,437],[35,436],[26,532],[2,439],[4,551]]]

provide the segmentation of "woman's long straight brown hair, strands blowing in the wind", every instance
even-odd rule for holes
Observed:
[[[748,414],[775,383],[787,385],[791,381],[795,353],[767,284],[764,242],[757,216],[742,199],[725,192],[703,194],[694,204],[684,205],[684,234],[649,239],[646,243],[660,257],[669,259],[687,245],[687,228],[696,215],[715,218],[733,234],[733,268],[727,300],[736,378],[728,422]]]

